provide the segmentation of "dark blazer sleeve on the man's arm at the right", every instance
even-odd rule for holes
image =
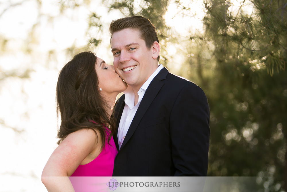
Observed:
[[[179,93],[170,114],[174,176],[206,176],[210,110],[203,90],[192,83]]]

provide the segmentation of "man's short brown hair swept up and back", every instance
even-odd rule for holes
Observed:
[[[112,36],[115,32],[121,31],[123,29],[135,29],[138,30],[141,36],[141,39],[144,39],[146,43],[146,47],[150,49],[154,43],[154,41],[158,41],[158,35],[156,33],[155,26],[150,22],[149,19],[144,18],[142,16],[131,16],[125,17],[117,20],[113,20],[110,23],[110,36]],[[158,55],[158,61],[160,60],[160,56]]]

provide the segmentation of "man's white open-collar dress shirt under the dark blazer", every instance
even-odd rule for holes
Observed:
[[[118,130],[118,141],[119,141],[119,148],[121,148],[121,145],[125,139],[125,136],[127,134],[127,131],[129,130],[129,126],[131,125],[131,121],[133,121],[133,117],[135,116],[135,113],[137,112],[137,109],[139,108],[139,104],[141,103],[142,98],[144,97],[144,94],[150,85],[150,82],[154,79],[154,77],[160,72],[160,70],[163,69],[162,64],[158,66],[156,71],[152,73],[152,75],[146,80],[146,82],[141,86],[137,94],[139,95],[139,100],[136,105],[135,104],[135,93],[133,90],[130,92],[124,92],[125,94],[125,107],[123,110],[123,114],[121,116],[121,120],[119,123],[119,130]]]

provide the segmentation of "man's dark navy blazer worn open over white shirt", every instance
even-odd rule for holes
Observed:
[[[210,110],[203,90],[164,68],[152,80],[119,149],[125,95],[115,105],[113,176],[206,176]]]

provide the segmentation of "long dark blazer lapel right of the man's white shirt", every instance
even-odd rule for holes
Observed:
[[[137,112],[135,113],[135,116],[133,117],[133,121],[131,122],[131,125],[129,126],[129,130],[127,131],[127,134],[125,136],[125,139],[121,145],[121,148],[127,143],[127,141],[131,138],[133,133],[135,132],[136,128],[139,125],[139,122],[141,121],[142,117],[150,107],[150,104],[162,88],[162,85],[164,85],[163,79],[166,79],[167,74],[169,71],[166,68],[163,68],[160,70],[160,72],[154,77],[150,85],[148,86],[144,97],[141,100],[141,103],[139,104],[139,108],[137,109]]]

